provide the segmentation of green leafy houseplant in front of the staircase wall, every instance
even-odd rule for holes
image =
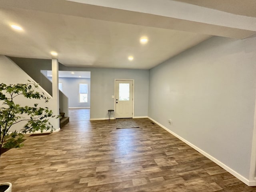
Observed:
[[[49,98],[36,91],[38,85],[35,82],[28,81],[25,84],[0,84],[0,156],[2,148],[16,148],[22,146],[23,134],[36,131],[43,132],[54,128],[49,122],[49,118],[59,118],[54,116],[52,110],[48,107],[21,106],[16,104],[17,97],[28,99],[38,99],[48,102]],[[10,132],[10,128],[19,122],[26,122],[23,128],[17,132]]]

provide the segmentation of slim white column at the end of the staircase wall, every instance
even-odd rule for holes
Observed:
[[[52,112],[54,115],[59,115],[60,104],[59,104],[59,62],[58,59],[52,59],[52,99],[54,105],[52,106]],[[57,130],[60,128],[60,121],[56,119],[56,122],[52,124]]]

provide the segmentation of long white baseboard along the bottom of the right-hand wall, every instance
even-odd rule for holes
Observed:
[[[176,133],[172,132],[171,130],[169,130],[168,128],[166,128],[165,126],[163,126],[162,124],[158,123],[157,121],[155,121],[154,119],[148,117],[150,120],[152,120],[153,122],[155,122],[156,124],[158,124],[160,127],[164,128],[166,131],[168,131],[170,134],[174,135],[175,137],[177,137],[178,139],[182,140],[184,143],[188,144],[190,147],[194,148],[195,150],[197,150],[198,152],[200,152],[202,155],[206,156],[207,158],[209,158],[210,160],[212,160],[213,162],[215,162],[216,164],[218,164],[220,167],[222,167],[223,169],[225,169],[227,172],[229,172],[230,174],[234,175],[236,178],[238,178],[239,180],[241,180],[242,182],[244,182],[246,185],[248,186],[256,186],[256,178],[254,178],[254,180],[248,180],[247,178],[245,178],[244,176],[240,175],[238,172],[236,172],[235,170],[233,170],[232,168],[228,167],[226,164],[220,162],[218,159],[214,158],[213,156],[211,156],[210,154],[206,153],[205,151],[203,151],[202,149],[198,148],[197,146],[193,145],[192,143],[188,142],[186,139],[182,138],[181,136],[177,135]]]

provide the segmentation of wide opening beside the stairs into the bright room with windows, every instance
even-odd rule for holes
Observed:
[[[41,70],[52,86],[52,71]],[[60,112],[70,121],[90,120],[90,71],[59,71]],[[46,84],[44,83],[44,84]]]

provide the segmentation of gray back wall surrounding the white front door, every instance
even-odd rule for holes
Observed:
[[[62,70],[91,72],[91,119],[108,118],[108,110],[114,109],[114,79],[134,79],[134,116],[148,116],[149,70],[80,67]]]

